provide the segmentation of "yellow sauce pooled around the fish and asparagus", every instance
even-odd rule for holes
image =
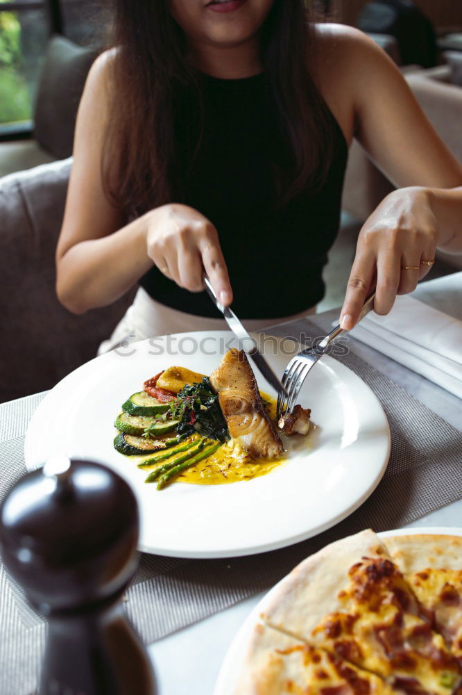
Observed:
[[[276,400],[266,393],[260,392],[266,404],[266,409],[271,420],[276,420]],[[169,435],[171,436],[171,435]],[[200,439],[198,435],[194,435],[192,439]],[[305,436],[296,435],[289,439],[303,439],[303,445],[306,446]],[[287,443],[287,438],[284,437],[284,446]],[[180,457],[182,454],[178,454]],[[137,463],[148,459],[151,455],[136,457]],[[130,457],[135,459],[135,457]],[[169,459],[173,461],[172,459]],[[197,466],[191,466],[187,470],[175,478],[177,482],[187,482],[196,485],[221,485],[239,480],[250,480],[254,477],[266,475],[274,468],[280,466],[286,461],[286,453],[278,459],[254,459],[246,450],[244,450],[238,441],[230,439],[225,442],[212,456],[200,461]],[[164,461],[153,466],[146,466],[143,470],[146,473],[155,470],[157,466],[162,466]]]

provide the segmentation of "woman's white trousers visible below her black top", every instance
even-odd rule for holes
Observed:
[[[267,326],[283,321],[315,313],[316,306],[300,311],[292,316],[262,319],[243,319],[243,325],[248,331],[260,331]],[[167,333],[185,333],[192,331],[224,331],[229,330],[223,318],[207,318],[185,313],[156,302],[140,287],[135,295],[133,304],[128,307],[125,316],[117,324],[112,335],[103,341],[98,354],[109,352],[123,341],[135,343],[145,338],[163,336]]]

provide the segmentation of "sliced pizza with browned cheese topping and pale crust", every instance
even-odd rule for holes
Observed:
[[[235,695],[462,695],[462,537],[365,530],[268,596]]]

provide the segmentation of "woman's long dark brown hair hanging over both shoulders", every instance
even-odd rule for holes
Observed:
[[[325,180],[332,156],[332,120],[313,74],[316,33],[312,3],[275,0],[260,30],[262,65],[291,158],[275,172],[280,202]],[[112,202],[128,215],[171,202],[175,172],[174,104],[188,88],[200,102],[187,42],[168,0],[113,0],[113,104],[102,175]],[[181,202],[181,201],[176,201]]]

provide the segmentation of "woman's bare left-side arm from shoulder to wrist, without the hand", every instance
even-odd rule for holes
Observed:
[[[153,265],[146,254],[147,218],[123,227],[121,212],[110,204],[101,182],[111,60],[108,53],[96,60],[80,101],[74,162],[56,250],[56,292],[74,313],[117,300]]]

